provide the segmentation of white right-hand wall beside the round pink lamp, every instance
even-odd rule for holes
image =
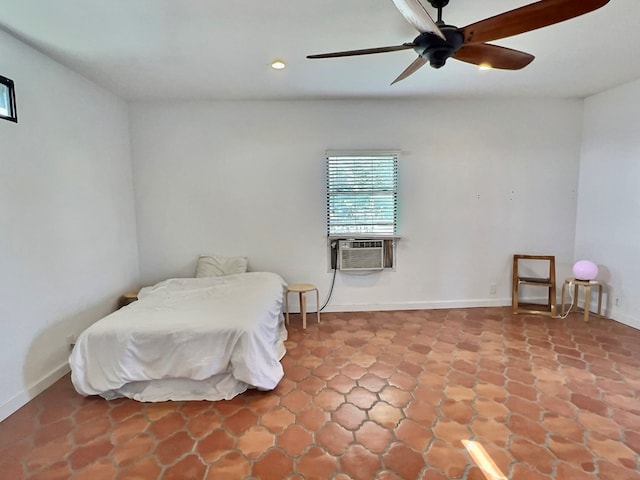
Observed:
[[[576,260],[599,266],[607,311],[640,328],[640,81],[585,101]],[[617,305],[616,305],[617,300]]]

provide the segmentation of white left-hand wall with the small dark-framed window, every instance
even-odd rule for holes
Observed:
[[[136,283],[127,105],[0,31],[0,419],[59,378],[68,335]]]

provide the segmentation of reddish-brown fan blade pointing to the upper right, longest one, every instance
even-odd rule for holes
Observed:
[[[518,35],[589,13],[609,0],[541,0],[486,18],[462,29],[464,43],[484,43]]]

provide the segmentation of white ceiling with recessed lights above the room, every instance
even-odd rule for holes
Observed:
[[[450,0],[444,20],[463,27],[532,1]],[[127,99],[585,97],[640,78],[638,20],[640,0],[611,0],[494,42],[535,55],[524,70],[449,60],[390,86],[412,50],[305,57],[413,40],[391,0],[0,0],[0,28]],[[287,68],[271,69],[275,58]]]

